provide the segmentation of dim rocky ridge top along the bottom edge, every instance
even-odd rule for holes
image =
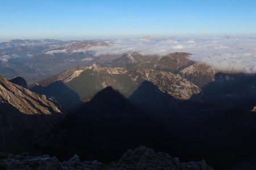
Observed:
[[[1,159],[1,158],[0,158]],[[94,160],[81,162],[79,156],[60,162],[55,157],[43,156],[14,156],[6,155],[0,160],[0,169],[189,169],[212,170],[204,160],[200,162],[181,163],[179,158],[172,158],[164,152],[155,152],[146,146],[135,150],[127,150],[119,161],[103,164]]]

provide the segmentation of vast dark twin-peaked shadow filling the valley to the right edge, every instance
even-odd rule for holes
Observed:
[[[59,83],[48,96],[55,94],[68,104],[72,97],[67,99],[67,89],[79,99]],[[256,158],[256,116],[250,112],[256,106],[255,87],[255,74],[224,73],[184,101],[147,81],[129,100],[107,87],[69,114],[65,138],[48,152],[61,159],[78,154],[109,162],[127,148],[146,145],[184,161],[205,159],[216,169],[229,169]]]

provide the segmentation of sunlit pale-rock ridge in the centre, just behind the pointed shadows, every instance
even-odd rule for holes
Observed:
[[[193,94],[200,93],[199,87],[179,74],[146,68],[131,70],[122,67],[106,67],[100,63],[72,67],[63,73],[35,83],[31,90],[40,94],[48,94],[48,87],[54,88],[52,84],[57,81],[63,82],[72,91],[75,91],[81,101],[92,99],[98,91],[108,86],[112,86],[125,97],[129,97],[144,81],[152,82],[160,91],[179,100],[189,99]],[[43,90],[44,88],[45,90]],[[58,97],[54,94],[48,95]]]

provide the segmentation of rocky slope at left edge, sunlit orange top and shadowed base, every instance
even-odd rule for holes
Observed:
[[[34,151],[35,146],[51,145],[64,121],[56,101],[0,76],[0,150]]]

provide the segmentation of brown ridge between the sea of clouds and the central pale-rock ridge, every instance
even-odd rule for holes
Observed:
[[[132,53],[102,64],[112,67],[125,67],[126,69],[147,68],[168,71],[180,74],[199,87],[213,82],[217,70],[206,63],[192,61],[189,59],[190,55],[189,53],[171,53],[165,56],[143,56]],[[133,61],[130,58],[133,58]]]

